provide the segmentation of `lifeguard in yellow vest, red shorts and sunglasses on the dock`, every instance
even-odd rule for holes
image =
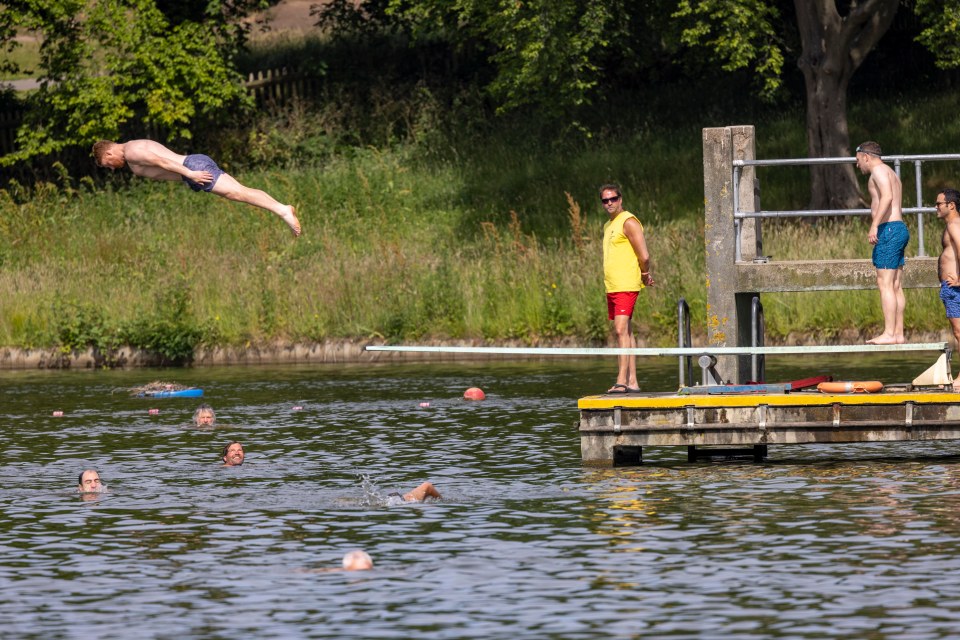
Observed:
[[[637,341],[630,327],[637,296],[644,287],[653,286],[650,274],[650,252],[643,237],[643,225],[629,211],[623,210],[620,187],[605,184],[600,187],[600,202],[610,220],[603,225],[603,281],[607,290],[607,317],[613,320],[617,345],[634,348]],[[637,357],[618,357],[617,382],[607,393],[635,393]]]

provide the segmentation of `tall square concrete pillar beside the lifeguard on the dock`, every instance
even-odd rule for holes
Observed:
[[[757,294],[740,291],[736,269],[736,231],[733,218],[733,160],[756,158],[752,126],[712,127],[703,130],[703,204],[706,252],[707,341],[710,346],[750,344],[750,306]],[[756,211],[759,190],[753,167],[741,169],[740,209]],[[756,257],[755,220],[741,225],[741,260]],[[724,380],[744,383],[750,377],[749,356],[718,358]]]

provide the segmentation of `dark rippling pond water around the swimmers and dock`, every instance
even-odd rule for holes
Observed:
[[[902,382],[927,364],[768,362],[768,380]],[[676,370],[643,363],[641,384],[676,388]],[[585,467],[576,400],[614,371],[547,359],[0,373],[0,635],[960,633],[957,443],[771,447],[760,464],[665,448],[640,467]],[[203,387],[216,427],[192,426],[198,400],[122,391],[156,379]],[[487,399],[463,400],[471,386]],[[231,440],[240,467],[220,463]],[[86,467],[109,488],[93,500],[75,491]],[[442,500],[387,499],[424,480]],[[328,571],[352,549],[373,570]]]

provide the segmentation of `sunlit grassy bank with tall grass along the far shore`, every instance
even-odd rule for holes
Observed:
[[[948,98],[862,102],[851,111],[852,137],[894,153],[956,151]],[[802,116],[785,110],[756,122],[758,156],[802,156]],[[624,185],[654,261],[639,335],[674,344],[684,297],[702,339],[700,129],[734,123],[620,128],[563,144],[516,125],[462,139],[436,129],[312,164],[226,162],[241,181],[298,206],[297,240],[270,214],[179,184],[63,176],[9,185],[0,191],[0,344],[129,344],[176,361],[201,344],[276,340],[596,343],[608,332],[596,187],[611,180]],[[927,203],[956,175],[925,168]],[[764,206],[802,207],[806,180],[802,170],[761,175]],[[765,250],[777,259],[866,257],[866,230],[863,219],[767,224]],[[928,216],[928,253],[939,233]],[[908,332],[945,328],[935,291],[907,296]],[[771,295],[764,306],[771,341],[870,334],[882,322],[876,291]]]

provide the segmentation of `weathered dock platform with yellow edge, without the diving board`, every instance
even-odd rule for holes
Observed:
[[[770,445],[960,439],[960,393],[949,386],[870,394],[615,394],[587,396],[578,406],[583,461],[604,466],[640,464],[643,447],[653,446],[685,446],[690,460],[762,460]]]

